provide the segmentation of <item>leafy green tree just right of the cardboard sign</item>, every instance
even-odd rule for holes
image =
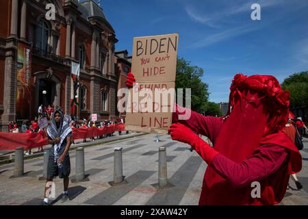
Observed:
[[[190,62],[180,58],[177,60],[177,77],[175,79],[175,88],[191,88],[192,110],[196,112],[205,112],[209,92],[207,92],[207,83],[201,81],[203,69],[198,66],[190,66]],[[185,94],[183,95],[185,98]],[[185,99],[183,100],[185,106]]]

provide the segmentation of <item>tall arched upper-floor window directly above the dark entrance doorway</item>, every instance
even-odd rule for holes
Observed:
[[[49,26],[45,21],[39,20],[36,29],[36,48],[40,50],[41,55],[47,55],[49,39]]]

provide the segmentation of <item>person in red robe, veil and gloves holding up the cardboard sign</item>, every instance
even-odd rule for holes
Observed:
[[[134,82],[133,74],[128,74],[127,86]],[[230,90],[227,116],[203,116],[175,105],[168,132],[172,140],[190,144],[208,164],[199,205],[278,204],[290,173],[302,166],[298,149],[281,131],[290,93],[270,75],[237,74]],[[180,114],[190,117],[180,120]],[[195,132],[207,136],[214,148]]]

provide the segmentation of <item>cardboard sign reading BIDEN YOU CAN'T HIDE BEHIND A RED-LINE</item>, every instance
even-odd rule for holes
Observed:
[[[125,129],[167,133],[172,122],[179,34],[133,38]]]

